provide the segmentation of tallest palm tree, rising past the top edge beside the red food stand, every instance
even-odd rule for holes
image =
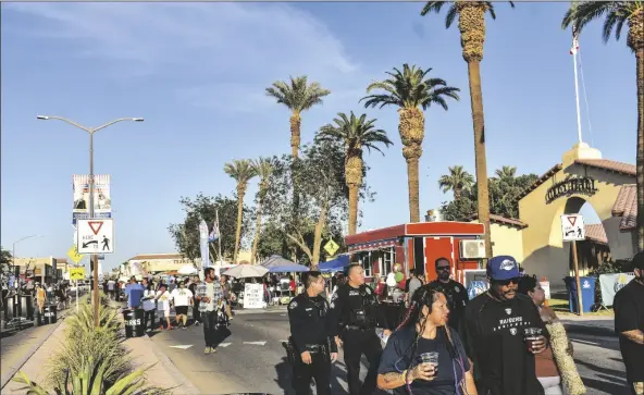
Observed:
[[[490,237],[490,192],[487,189],[487,159],[485,158],[485,122],[483,118],[483,92],[481,91],[481,61],[485,41],[485,13],[496,18],[492,1],[428,1],[420,12],[425,16],[430,12],[439,13],[443,5],[449,3],[445,17],[445,27],[449,28],[458,15],[462,57],[468,63],[470,79],[470,99],[474,126],[474,160],[476,164],[476,190],[479,221],[485,225],[485,254],[492,257]],[[515,4],[510,1],[510,5]]]

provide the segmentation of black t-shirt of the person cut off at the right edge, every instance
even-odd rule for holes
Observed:
[[[615,331],[619,335],[619,348],[627,367],[627,380],[644,381],[644,345],[631,342],[622,332],[644,332],[644,285],[632,280],[615,294]]]

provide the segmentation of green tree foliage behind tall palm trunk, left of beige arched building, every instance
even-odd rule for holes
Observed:
[[[503,166],[496,174],[503,174],[503,177],[488,178],[490,189],[490,212],[492,214],[505,218],[519,218],[519,201],[517,198],[528,187],[536,182],[536,174],[523,174],[516,176],[508,170],[511,166]],[[441,207],[441,212],[448,221],[469,221],[476,213],[476,185],[461,193],[459,199],[445,201]]]

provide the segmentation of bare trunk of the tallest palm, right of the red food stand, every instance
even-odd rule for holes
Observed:
[[[474,124],[474,161],[476,164],[476,190],[479,222],[485,226],[485,255],[492,258],[492,238],[490,236],[490,193],[487,189],[487,159],[485,158],[485,121],[483,118],[483,92],[481,90],[481,62],[468,62],[472,121]]]

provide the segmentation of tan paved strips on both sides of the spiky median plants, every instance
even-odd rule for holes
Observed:
[[[24,365],[17,367],[16,371],[22,371],[30,380],[39,383],[46,390],[52,390],[46,385],[47,369],[42,368],[47,367],[50,357],[62,346],[65,338],[65,328],[66,324],[64,321],[61,324],[57,323],[57,326],[51,334],[47,336],[47,340],[36,347],[36,350],[30,358],[28,358]],[[147,383],[163,388],[170,388],[174,394],[199,394],[197,388],[178,372],[172,361],[165,357],[148,336],[131,337],[125,340],[123,344],[132,351],[132,360],[134,361],[133,365],[135,369],[153,365],[153,367],[146,372]],[[4,355],[4,350],[2,354]],[[23,387],[24,384],[8,380],[4,385],[4,360],[2,360],[2,365],[3,387],[1,394],[20,394],[20,388]],[[15,372],[12,377],[15,377]]]

